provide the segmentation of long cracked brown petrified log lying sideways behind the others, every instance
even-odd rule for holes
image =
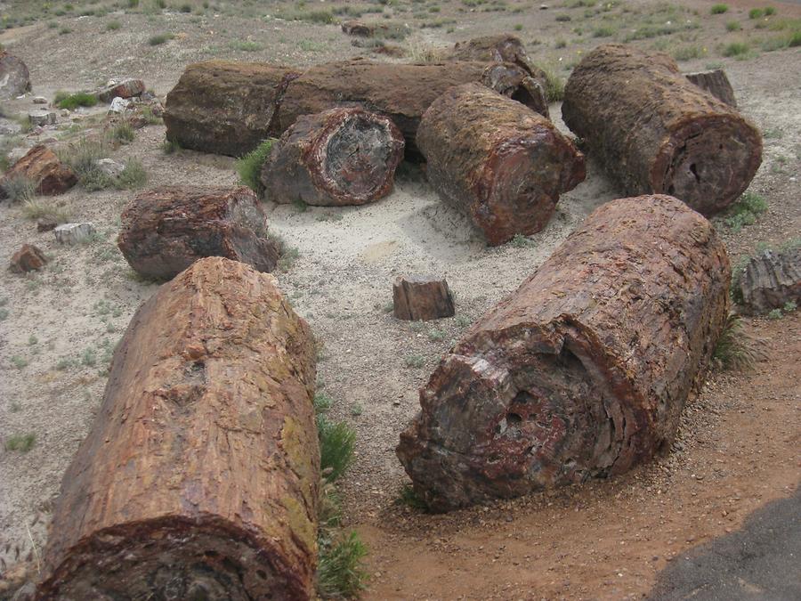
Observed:
[[[299,74],[269,65],[210,61],[187,67],[167,94],[166,136],[184,148],[242,155],[264,138],[279,137],[301,115],[360,107],[391,118],[406,138],[407,158],[415,158],[414,138],[425,110],[450,86],[467,82],[488,85],[523,104],[536,103],[532,78],[509,63],[353,60]]]

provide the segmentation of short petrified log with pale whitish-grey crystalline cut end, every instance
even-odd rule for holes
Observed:
[[[363,205],[392,190],[403,134],[389,118],[337,108],[303,115],[264,162],[264,196],[308,205]]]

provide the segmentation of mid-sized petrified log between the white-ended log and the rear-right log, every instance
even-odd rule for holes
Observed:
[[[540,231],[559,195],[585,177],[584,155],[553,123],[481,85],[452,87],[434,101],[417,143],[434,190],[490,245]]]

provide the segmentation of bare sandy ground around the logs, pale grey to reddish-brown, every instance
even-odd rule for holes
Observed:
[[[19,8],[21,3],[0,4]],[[192,4],[202,12],[200,3]],[[308,65],[368,53],[353,47],[336,24],[264,17],[273,15],[278,3],[248,3],[247,8],[212,4],[213,10],[202,16],[166,10],[44,17],[5,30],[0,42],[28,63],[33,94],[48,98],[58,89],[92,88],[114,75],[142,77],[163,98],[186,64],[210,58]],[[752,4],[730,3],[726,15],[710,16],[711,3],[621,2],[587,16],[585,7],[554,4],[538,10],[539,2],[495,3],[507,7],[495,12],[480,12],[483,4],[470,10],[465,9],[470,3],[429,2],[425,6],[439,11],[428,12],[426,19],[445,22],[427,28],[401,10],[418,10],[417,4],[399,2],[384,9],[393,20],[413,26],[409,37],[397,44],[414,56],[421,48],[510,31],[561,77],[569,75],[571,65],[589,48],[624,39],[624,27],[633,27],[628,20],[654,14],[654,19],[663,19],[665,6],[672,6],[671,18],[692,20],[699,27],[633,43],[668,52],[686,45],[702,47],[698,58],[681,62],[682,69],[723,65],[740,110],[765,132],[765,158],[750,191],[765,197],[768,211],[741,231],[732,231],[723,219],[715,221],[732,262],[754,253],[759,243],[775,245],[799,235],[799,49],[752,52],[743,60],[721,56],[721,48],[732,41],[765,35],[748,20]],[[222,6],[218,11],[214,5]],[[781,18],[801,18],[797,5],[773,5]],[[243,11],[261,11],[261,18]],[[560,14],[569,14],[571,20],[556,20]],[[111,19],[121,28],[106,30]],[[368,14],[365,19],[378,17]],[[729,20],[739,20],[742,30],[727,31]],[[606,22],[626,25],[612,37],[593,37],[595,26]],[[580,36],[579,24],[584,31]],[[60,33],[63,28],[70,31]],[[162,31],[175,36],[164,45],[149,45],[148,38]],[[241,51],[235,46],[241,40],[259,47]],[[566,40],[564,46],[561,40]],[[758,49],[758,42],[754,46]],[[4,110],[22,113],[30,106],[28,96],[6,102]],[[37,141],[64,147],[96,129],[100,114],[99,109],[78,110],[60,118],[60,129],[28,134],[21,142],[25,147]],[[551,106],[551,114],[567,131],[558,104]],[[77,125],[68,131],[72,119]],[[140,160],[149,186],[237,183],[231,158],[188,150],[166,155],[163,140],[163,126],[147,126],[134,142],[109,156]],[[119,214],[134,193],[89,193],[77,187],[58,199],[45,199],[69,211],[74,220],[97,226],[98,240],[76,248],[57,245],[52,232],[36,232],[36,223],[18,205],[0,204],[0,258],[7,261],[24,242],[52,256],[41,273],[22,277],[0,271],[0,439],[36,435],[28,452],[0,451],[0,578],[25,560],[36,565],[61,476],[101,402],[110,349],[137,306],[157,287],[134,277],[115,244]],[[392,194],[367,207],[300,211],[266,206],[271,231],[299,253],[278,277],[324,345],[320,388],[336,401],[334,417],[347,420],[358,433],[355,465],[340,488],[346,525],[358,530],[370,548],[364,597],[642,597],[676,557],[735,531],[750,512],[789,497],[797,487],[801,315],[789,313],[781,320],[747,321],[748,333],[762,339],[765,359],[752,371],[710,373],[684,411],[673,450],[650,465],[610,482],[445,516],[426,515],[397,502],[408,479],[394,447],[418,409],[418,388],[441,354],[534,271],[586,215],[618,196],[590,160],[587,181],[562,196],[545,231],[526,244],[499,248],[484,247],[469,224],[441,204],[417,167],[404,166]],[[394,320],[386,308],[392,301],[392,279],[403,273],[446,276],[456,294],[457,316],[425,324]]]

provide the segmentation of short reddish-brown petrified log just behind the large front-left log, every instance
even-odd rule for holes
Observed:
[[[224,256],[271,272],[279,246],[254,191],[161,186],[131,200],[117,246],[134,271],[168,279],[204,256]]]

